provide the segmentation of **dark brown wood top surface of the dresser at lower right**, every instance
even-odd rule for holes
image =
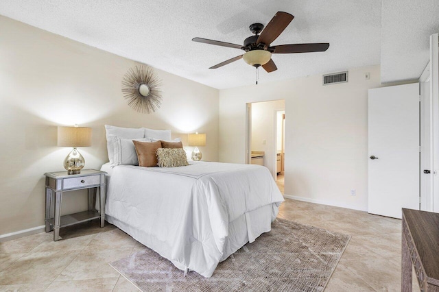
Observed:
[[[439,214],[403,208],[403,217],[427,278],[439,281]]]

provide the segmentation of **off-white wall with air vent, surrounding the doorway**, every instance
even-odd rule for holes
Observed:
[[[367,210],[367,99],[369,88],[381,86],[379,66],[351,69],[348,80],[322,86],[322,75],[312,75],[263,84],[261,76],[259,85],[220,90],[219,161],[245,162],[246,103],[285,99],[285,195]]]

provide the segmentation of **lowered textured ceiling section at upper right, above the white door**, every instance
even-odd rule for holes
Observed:
[[[417,80],[439,32],[439,0],[385,0],[381,13],[381,82]]]

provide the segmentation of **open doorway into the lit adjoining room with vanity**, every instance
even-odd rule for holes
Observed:
[[[254,102],[246,106],[246,163],[267,167],[283,193],[285,99]]]

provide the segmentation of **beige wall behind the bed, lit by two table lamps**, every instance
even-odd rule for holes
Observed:
[[[43,173],[64,170],[70,151],[56,146],[57,125],[93,128],[92,146],[80,148],[86,168],[108,161],[104,124],[171,129],[184,145],[203,132],[203,159],[218,159],[218,90],[156,70],[163,104],[140,114],[121,93],[136,62],[3,16],[0,27],[0,236],[43,225]],[[84,193],[64,196],[62,208],[86,208]]]

